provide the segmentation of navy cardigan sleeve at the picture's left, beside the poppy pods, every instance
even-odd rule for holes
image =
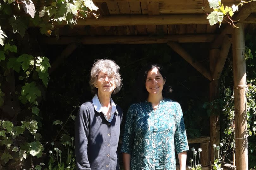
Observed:
[[[82,104],[80,107],[75,123],[76,138],[76,169],[90,170],[90,164],[87,155],[88,134],[89,134],[89,109]]]

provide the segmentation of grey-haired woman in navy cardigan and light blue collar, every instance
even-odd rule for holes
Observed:
[[[112,98],[121,86],[119,66],[97,60],[91,68],[90,85],[95,94],[83,103],[76,117],[76,167],[79,170],[119,169],[117,145],[123,113]]]

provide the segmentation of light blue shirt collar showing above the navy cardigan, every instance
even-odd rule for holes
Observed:
[[[112,100],[112,98],[110,98],[110,103],[111,103],[112,108],[111,108],[111,117],[110,117],[109,120],[107,119],[107,115],[104,113],[105,119],[106,119],[108,122],[111,122],[111,121],[112,121],[115,112],[118,114],[118,111],[117,111],[117,109],[116,109],[116,104],[114,103],[114,101]],[[97,96],[96,94],[95,94],[95,96],[93,97],[93,106],[94,106],[94,108],[95,108],[95,110],[96,110],[97,112],[99,112],[99,113],[102,112],[103,107],[101,106],[101,102],[100,102],[100,100],[99,100],[99,98],[98,98],[98,96]]]

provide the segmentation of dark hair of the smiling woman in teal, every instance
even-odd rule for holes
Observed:
[[[146,83],[148,72],[155,67],[158,69],[159,73],[162,75],[163,79],[166,81],[167,72],[162,67],[162,65],[154,63],[154,64],[147,64],[146,66],[144,66],[138,75],[138,82],[140,87],[139,87],[139,93],[138,93],[139,95],[137,96],[137,100],[139,102],[145,101],[149,96],[149,92],[145,87],[145,83]],[[172,93],[172,91],[173,91],[172,87],[168,85],[166,81],[162,90],[163,97],[168,97],[170,93]]]

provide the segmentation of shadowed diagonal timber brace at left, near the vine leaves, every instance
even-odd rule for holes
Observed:
[[[64,62],[64,59],[67,58],[76,48],[78,47],[78,44],[72,43],[69,44],[56,58],[56,60],[51,64],[51,68],[49,69],[49,74],[52,73],[59,65],[61,65]]]

